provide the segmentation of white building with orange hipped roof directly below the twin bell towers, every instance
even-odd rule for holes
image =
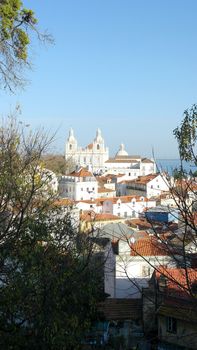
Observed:
[[[97,198],[98,183],[90,171],[80,168],[61,177],[59,193],[61,198],[70,198],[74,201],[93,200]]]

